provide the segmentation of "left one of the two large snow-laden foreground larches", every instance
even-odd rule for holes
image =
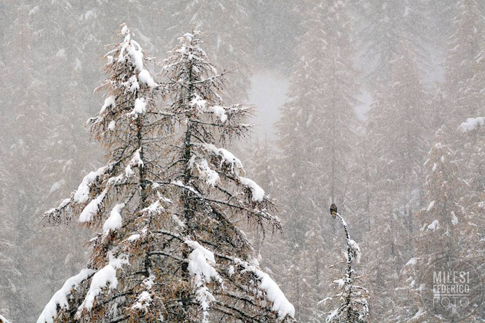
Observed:
[[[118,304],[128,306],[133,301],[129,295],[146,286],[142,285],[146,278],[143,274],[126,269],[126,275],[116,277],[116,270],[129,263],[130,268],[138,270],[141,258],[129,252],[136,242],[125,239],[125,235],[143,226],[141,214],[145,213],[141,209],[148,198],[146,174],[154,172],[153,152],[162,121],[152,117],[158,84],[145,68],[142,48],[131,39],[126,26],[121,34],[123,40],[105,55],[108,63],[104,69],[110,77],[99,90],[106,90],[108,96],[99,115],[88,120],[92,134],[108,147],[108,164],[86,175],[70,198],[44,215],[54,224],[69,221],[73,215],[79,215],[79,222],[86,226],[100,225],[105,220],[103,233],[91,240],[94,249],[88,268],[69,278],[54,294],[38,318],[39,323],[111,322],[113,318],[123,318]],[[107,290],[118,287],[123,292],[106,302],[101,295],[108,284]],[[97,306],[95,300],[106,302],[110,310]]]

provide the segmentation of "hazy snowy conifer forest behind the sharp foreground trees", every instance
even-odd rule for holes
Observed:
[[[363,251],[371,322],[425,322],[420,266],[484,256],[485,128],[462,124],[485,115],[484,15],[477,0],[0,0],[0,314],[35,322],[86,262],[98,228],[39,217],[102,165],[82,125],[127,23],[154,75],[201,30],[231,70],[225,101],[258,103],[260,126],[233,149],[284,233],[247,233],[295,318],[321,322],[341,272],[335,202]]]

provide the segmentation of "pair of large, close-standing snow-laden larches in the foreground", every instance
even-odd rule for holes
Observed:
[[[166,100],[155,104],[162,86],[126,26],[122,34],[105,55],[108,97],[89,120],[108,164],[45,215],[54,223],[78,215],[103,232],[91,240],[87,268],[54,294],[38,323],[293,321],[293,306],[236,226],[246,216],[279,230],[273,204],[218,146],[249,129],[240,123],[248,108],[223,105],[223,76],[196,32],[170,52]]]

